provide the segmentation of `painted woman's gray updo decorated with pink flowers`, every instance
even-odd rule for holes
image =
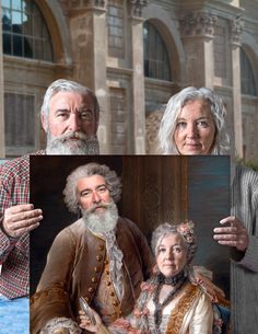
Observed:
[[[194,222],[184,221],[178,224],[171,224],[165,222],[159,226],[152,233],[151,240],[151,247],[155,257],[157,255],[159,246],[162,240],[169,234],[176,234],[181,238],[184,246],[187,250],[187,264],[189,264],[197,252],[197,238],[194,231]]]

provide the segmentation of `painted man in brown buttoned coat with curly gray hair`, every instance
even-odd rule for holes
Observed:
[[[109,324],[133,308],[151,274],[152,253],[138,227],[118,217],[121,184],[106,165],[89,163],[67,180],[64,201],[82,218],[55,239],[31,299],[31,332],[81,333],[79,297]],[[78,319],[79,320],[79,319]]]

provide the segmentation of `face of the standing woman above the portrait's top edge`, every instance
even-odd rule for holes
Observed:
[[[174,140],[183,156],[209,154],[215,140],[210,106],[202,100],[189,101],[177,118]]]

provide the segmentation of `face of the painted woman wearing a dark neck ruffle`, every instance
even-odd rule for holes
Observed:
[[[165,277],[175,276],[187,263],[187,250],[178,234],[165,235],[157,247],[156,264]]]

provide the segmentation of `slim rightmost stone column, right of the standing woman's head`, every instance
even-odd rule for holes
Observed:
[[[232,45],[232,89],[233,89],[233,120],[235,152],[243,158],[243,125],[242,125],[242,92],[241,92],[241,55],[239,36],[243,32],[244,22],[238,16],[231,22],[231,45]],[[233,153],[235,153],[233,152]]]

